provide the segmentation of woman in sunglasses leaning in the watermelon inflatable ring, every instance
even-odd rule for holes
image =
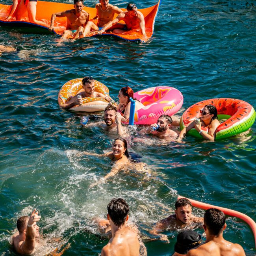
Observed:
[[[200,114],[200,123],[196,124],[195,120],[192,121],[188,126],[182,129],[178,140],[181,140],[192,128],[195,128],[204,139],[209,141],[215,140],[217,127],[221,124],[217,119],[217,109],[213,105],[205,105],[204,108],[200,110]],[[202,126],[208,127],[208,133],[201,129]]]

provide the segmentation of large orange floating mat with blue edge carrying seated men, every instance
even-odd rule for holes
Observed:
[[[19,1],[20,2],[20,1]],[[155,6],[151,6],[145,9],[139,9],[144,15],[145,18],[145,30],[147,37],[152,37],[152,34],[154,32],[154,22],[156,19],[156,15],[158,13],[158,9],[160,6],[161,0],[158,1],[158,4]],[[18,8],[17,8],[18,9]],[[17,12],[17,9],[14,13]],[[56,3],[56,2],[45,2],[45,1],[37,1],[37,14],[36,19],[41,20],[46,23],[46,26],[41,26],[39,24],[31,23],[28,19],[28,13],[25,12],[24,15],[22,15],[21,20],[16,20],[15,18],[11,19],[10,21],[5,21],[10,10],[11,6],[0,4],[0,25],[9,25],[9,26],[16,26],[16,27],[41,27],[48,30],[48,27],[50,26],[50,21],[52,17],[52,13],[56,13],[59,11],[66,11],[69,9],[74,9],[73,4],[62,4],[62,3]],[[89,13],[90,18],[89,20],[92,20],[96,16],[96,9],[91,7],[84,7],[83,8],[87,13]],[[121,8],[123,11],[126,10],[124,8]],[[115,17],[117,14],[115,14]],[[114,18],[115,18],[114,17]],[[122,22],[122,21],[121,21]],[[54,32],[58,35],[62,35],[63,31],[66,29],[67,26],[67,19],[66,18],[56,18],[54,22]],[[114,33],[102,33],[102,35],[113,35],[116,37],[119,37],[121,39],[127,40],[127,41],[144,41],[143,35],[138,32],[137,30],[131,30],[128,32],[124,32],[122,34],[114,34]],[[91,35],[91,36],[98,36],[98,35]]]

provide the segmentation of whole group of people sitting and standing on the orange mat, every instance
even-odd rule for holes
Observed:
[[[36,6],[37,0],[25,0],[20,1],[19,7],[18,0],[13,0],[13,6],[6,18],[6,21],[11,20],[16,8],[18,8],[16,14],[16,20],[20,20],[22,14],[27,9],[28,18],[30,22],[40,24],[42,26],[48,26],[43,21],[36,20]],[[74,9],[53,13],[51,17],[51,24],[49,30],[54,30],[54,21],[56,17],[66,17],[67,27],[62,35],[62,39],[73,37],[74,39],[82,38],[89,33],[101,35],[106,31],[113,31],[113,33],[124,33],[129,30],[139,30],[141,34],[147,39],[145,32],[145,20],[143,14],[137,10],[135,4],[128,4],[126,11],[122,11],[119,7],[109,4],[109,0],[100,0],[100,3],[96,4],[96,16],[90,21],[89,13],[83,10],[83,0],[74,0]],[[115,13],[118,16],[114,18]],[[97,20],[97,25],[93,22]],[[119,23],[124,21],[125,24]]]

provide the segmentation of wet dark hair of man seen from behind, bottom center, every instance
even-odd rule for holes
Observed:
[[[120,227],[125,223],[129,206],[122,198],[113,198],[108,204],[108,214],[113,223]]]

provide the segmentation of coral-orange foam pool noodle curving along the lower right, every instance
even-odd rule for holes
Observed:
[[[210,208],[216,208],[216,209],[219,209],[219,210],[223,211],[224,214],[226,214],[226,215],[234,216],[234,217],[237,217],[237,218],[245,221],[250,226],[250,228],[252,229],[252,232],[254,234],[255,248],[256,248],[256,223],[253,219],[251,219],[250,217],[248,217],[244,213],[241,213],[239,211],[230,210],[228,208],[223,208],[223,207],[214,206],[214,205],[211,205],[211,204],[198,202],[196,200],[192,200],[192,199],[187,198],[187,197],[179,196],[178,199],[180,199],[180,198],[186,198],[187,200],[189,200],[191,202],[191,204],[194,207],[197,207],[197,208],[200,208],[200,209],[203,209],[203,210],[207,210],[207,209],[210,209]]]

